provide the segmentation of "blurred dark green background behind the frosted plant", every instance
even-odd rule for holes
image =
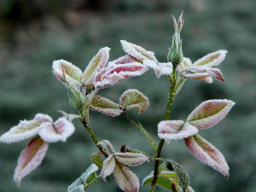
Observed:
[[[54,119],[57,110],[76,113],[70,107],[66,88],[51,73],[52,62],[64,59],[82,70],[98,49],[111,48],[110,61],[125,55],[120,39],[154,51],[166,61],[172,44],[173,22],[184,12],[183,55],[196,61],[218,49],[229,51],[219,66],[225,83],[214,80],[188,80],[172,108],[172,119],[186,119],[207,99],[230,99],[236,106],[210,130],[200,131],[225,156],[230,177],[224,177],[201,164],[189,153],[183,141],[165,145],[162,155],[183,165],[195,191],[252,192],[256,190],[256,37],[254,0],[174,1],[174,0],[2,0],[0,1],[0,134],[17,125],[20,119],[32,119],[47,113]],[[150,108],[137,115],[156,143],[157,124],[165,118],[168,80],[156,79],[149,71],[101,90],[119,102],[123,91],[132,88],[148,96]],[[143,135],[121,115],[117,118],[90,113],[92,128],[99,139],[108,139],[116,150],[121,143],[152,153]],[[67,191],[67,186],[90,166],[90,154],[97,149],[84,127],[73,121],[76,131],[67,143],[51,143],[37,170],[25,177],[20,189],[13,181],[17,158],[28,141],[0,144],[1,192]],[[154,164],[131,167],[140,181]],[[90,191],[121,191],[114,180],[100,181]],[[140,191],[148,191],[148,187]],[[165,191],[157,188],[156,191]]]

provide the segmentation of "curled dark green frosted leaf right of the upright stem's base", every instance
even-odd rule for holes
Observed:
[[[190,177],[189,173],[186,172],[183,166],[173,160],[166,160],[166,167],[170,171],[177,173],[178,182],[180,183],[183,191],[187,191],[190,183]]]

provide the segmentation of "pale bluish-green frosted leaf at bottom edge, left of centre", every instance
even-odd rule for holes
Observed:
[[[88,189],[91,185],[90,183],[95,182],[99,179],[96,177],[96,171],[98,167],[94,164],[91,164],[88,169],[78,177],[71,185],[68,186],[68,192],[84,192],[85,189]]]

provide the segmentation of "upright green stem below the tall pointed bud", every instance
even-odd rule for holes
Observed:
[[[174,97],[176,96],[176,90],[177,90],[176,81],[177,81],[177,79],[176,79],[176,69],[175,68],[173,69],[172,76],[170,76],[169,79],[170,79],[171,87],[170,87],[170,92],[169,92],[169,96],[168,96],[167,108],[166,108],[166,120],[170,119],[172,102],[174,100]],[[157,148],[156,158],[160,158],[160,154],[161,154],[162,148],[164,147],[164,143],[165,143],[165,140],[161,139],[160,143],[158,145],[158,148]],[[157,178],[159,175],[159,172],[158,172],[159,166],[160,166],[160,160],[155,160],[155,162],[154,162],[154,177],[152,179],[152,183],[151,183],[151,186],[150,186],[148,192],[154,192],[155,184],[156,184],[156,181],[157,181]]]

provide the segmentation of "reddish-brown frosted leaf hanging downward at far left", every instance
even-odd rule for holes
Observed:
[[[48,143],[45,143],[40,137],[36,137],[27,144],[21,152],[18,165],[15,168],[15,183],[20,186],[21,179],[36,169],[44,159]]]

